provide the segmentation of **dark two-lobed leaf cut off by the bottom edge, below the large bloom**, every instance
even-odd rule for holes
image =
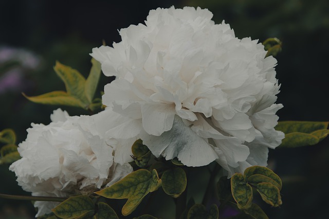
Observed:
[[[204,205],[195,204],[190,208],[187,218],[188,219],[217,219],[218,208],[216,205],[212,205],[208,212]]]

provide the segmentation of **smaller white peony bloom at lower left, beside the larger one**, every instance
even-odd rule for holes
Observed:
[[[129,164],[113,162],[114,149],[105,143],[107,113],[69,116],[58,109],[49,125],[32,123],[19,144],[22,158],[9,167],[19,185],[33,196],[68,197],[93,193],[131,173]],[[36,216],[50,213],[58,204],[35,202]]]

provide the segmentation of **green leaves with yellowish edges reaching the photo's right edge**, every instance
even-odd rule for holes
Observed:
[[[280,147],[295,148],[315,145],[322,141],[328,134],[328,122],[279,122],[276,130],[285,133]]]

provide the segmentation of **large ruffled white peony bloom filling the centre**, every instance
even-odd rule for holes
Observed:
[[[110,138],[140,137],[156,156],[187,166],[218,162],[229,172],[267,165],[284,137],[277,125],[276,59],[258,41],[238,39],[207,9],[151,10],[145,25],[91,54],[106,76],[103,104],[121,123]],[[113,120],[113,118],[109,118]],[[129,160],[130,146],[121,150]]]

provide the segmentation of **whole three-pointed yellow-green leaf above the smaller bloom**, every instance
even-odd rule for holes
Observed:
[[[54,71],[65,84],[65,91],[52,91],[38,96],[23,95],[34,103],[48,105],[65,105],[81,107],[86,110],[95,111],[100,109],[102,104],[99,98],[94,99],[95,91],[101,73],[101,65],[94,58],[92,69],[87,79],[81,73],[68,66],[56,62]]]

